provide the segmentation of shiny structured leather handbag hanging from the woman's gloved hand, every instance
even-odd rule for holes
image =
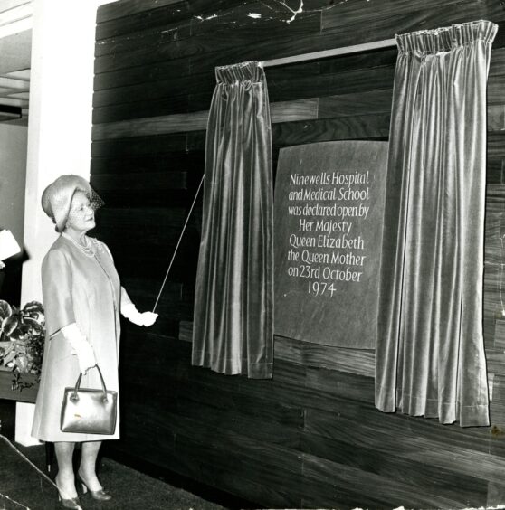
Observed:
[[[110,392],[105,387],[99,365],[101,390],[81,388],[82,373],[75,387],[65,388],[62,402],[60,429],[62,432],[78,434],[111,435],[116,429],[118,392]]]

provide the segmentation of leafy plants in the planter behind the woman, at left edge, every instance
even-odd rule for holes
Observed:
[[[11,373],[11,391],[21,392],[39,382],[44,338],[41,303],[31,301],[17,308],[0,300],[0,375]]]

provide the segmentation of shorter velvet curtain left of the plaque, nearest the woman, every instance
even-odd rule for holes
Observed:
[[[258,62],[218,67],[209,111],[192,363],[272,377],[272,130]]]

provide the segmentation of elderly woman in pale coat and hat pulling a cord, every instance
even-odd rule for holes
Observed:
[[[62,175],[43,192],[43,211],[61,235],[43,259],[42,284],[46,341],[40,388],[35,404],[33,437],[54,443],[58,460],[56,485],[64,508],[81,508],[75,479],[95,499],[111,496],[100,485],[95,467],[102,439],[119,439],[119,416],[110,436],[60,430],[64,388],[82,373],[81,387],[100,388],[101,373],[109,390],[119,391],[119,311],[138,326],[151,326],[157,314],[139,313],[125,289],[107,246],[86,235],[95,226],[100,197],[78,175]],[[119,410],[118,410],[119,412]],[[72,457],[81,442],[81,465]]]

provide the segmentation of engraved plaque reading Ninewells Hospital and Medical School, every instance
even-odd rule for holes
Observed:
[[[274,198],[276,335],[374,348],[387,143],[281,149]]]

